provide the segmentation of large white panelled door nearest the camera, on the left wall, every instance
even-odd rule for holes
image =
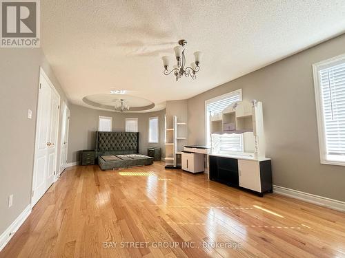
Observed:
[[[59,122],[59,95],[48,80],[40,75],[37,107],[32,206],[55,182],[57,168],[57,133]]]

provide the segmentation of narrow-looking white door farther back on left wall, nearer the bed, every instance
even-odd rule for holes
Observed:
[[[62,173],[67,167],[68,153],[68,128],[70,125],[70,109],[63,103],[62,127],[61,127],[61,155],[60,155],[60,171]]]

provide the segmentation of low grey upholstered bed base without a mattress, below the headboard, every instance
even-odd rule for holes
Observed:
[[[153,164],[153,158],[141,154],[103,155],[98,157],[101,170],[122,169]]]

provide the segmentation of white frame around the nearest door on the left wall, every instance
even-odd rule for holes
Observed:
[[[46,72],[44,72],[43,67],[40,66],[39,67],[39,84],[41,83],[41,76],[46,79],[48,85],[50,86],[52,91],[55,92],[55,94],[57,94],[58,99],[59,99],[59,101],[58,101],[59,102],[59,107],[58,107],[59,112],[57,112],[57,134],[56,134],[56,139],[57,139],[57,141],[59,141],[61,96],[60,96],[59,92],[57,92],[57,89],[55,89],[54,85],[50,81],[50,78],[47,76]],[[37,152],[36,152],[36,144],[37,144],[37,136],[38,136],[37,129],[38,129],[38,126],[39,126],[39,125],[37,125],[37,123],[38,123],[37,115],[38,115],[38,111],[39,111],[38,110],[38,108],[39,108],[39,106],[38,106],[38,103],[39,103],[39,84],[37,85],[38,86],[38,91],[37,91],[38,94],[37,94],[37,110],[36,110],[36,127],[35,127],[35,132],[34,132],[34,166],[32,168],[32,180],[31,180],[31,199],[30,199],[31,207],[32,207],[32,193],[34,191],[34,175],[35,175],[34,169],[36,167],[35,166],[35,162],[36,162],[36,155],[37,155]],[[58,149],[58,146],[59,145],[57,144],[57,147],[55,148],[55,162],[54,162],[54,166],[55,166],[55,170],[56,171],[57,171],[57,153],[58,153],[57,149]],[[58,178],[57,174],[58,174],[58,172],[55,173],[55,175],[54,175],[54,182],[53,182],[53,184],[57,181],[57,178]]]

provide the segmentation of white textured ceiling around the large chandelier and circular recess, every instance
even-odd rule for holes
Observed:
[[[164,108],[341,34],[338,1],[41,1],[41,45],[72,103],[126,89]],[[161,56],[187,39],[197,80],[164,76]],[[87,106],[87,105],[86,105]]]

